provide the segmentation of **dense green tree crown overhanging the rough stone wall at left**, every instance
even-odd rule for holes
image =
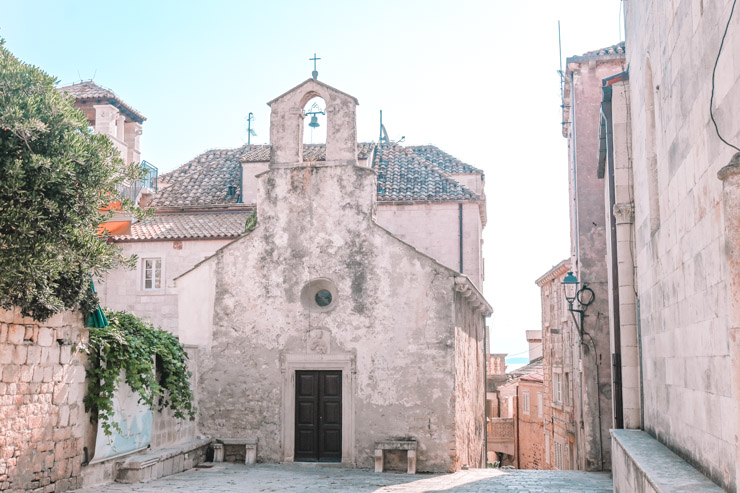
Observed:
[[[54,84],[0,39],[0,306],[38,320],[95,306],[90,274],[133,262],[98,225],[135,168]]]

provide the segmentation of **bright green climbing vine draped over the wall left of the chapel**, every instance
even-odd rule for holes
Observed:
[[[152,409],[169,408],[180,419],[195,419],[188,378],[188,355],[175,336],[126,312],[105,312],[109,325],[91,328],[82,349],[88,354],[85,410],[103,431],[121,433],[113,421],[113,397],[123,372],[125,382]],[[156,362],[155,362],[156,361]]]

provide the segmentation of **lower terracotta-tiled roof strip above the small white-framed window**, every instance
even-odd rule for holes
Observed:
[[[251,209],[244,211],[156,214],[131,225],[131,233],[116,241],[234,238],[244,232]]]

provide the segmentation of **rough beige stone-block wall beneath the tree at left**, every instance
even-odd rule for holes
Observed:
[[[86,415],[82,316],[0,310],[0,490],[78,487]]]

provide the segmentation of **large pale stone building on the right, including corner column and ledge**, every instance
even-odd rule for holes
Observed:
[[[674,486],[719,491],[693,466],[737,491],[740,155],[733,154],[740,148],[740,16],[732,17],[734,7],[730,0],[660,8],[626,2],[629,71],[615,70],[602,84],[598,156],[611,223],[606,264],[620,355],[618,409],[625,428],[644,430],[613,432],[618,492],[653,491],[645,485],[666,481],[656,457],[672,458]]]

